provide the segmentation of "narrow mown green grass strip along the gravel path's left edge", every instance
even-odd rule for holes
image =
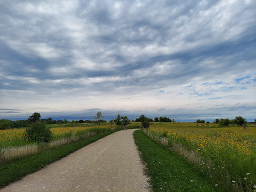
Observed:
[[[118,130],[120,129],[99,133],[88,138],[78,140],[74,143],[49,149],[43,153],[28,156],[10,164],[0,166],[0,187],[3,187],[10,182],[17,180],[26,174],[35,172],[46,164],[50,164],[56,160],[59,160],[60,158],[74,152],[75,150]]]

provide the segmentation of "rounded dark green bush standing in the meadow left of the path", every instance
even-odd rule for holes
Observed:
[[[25,138],[34,142],[48,142],[53,134],[41,121],[32,122],[25,130]]]

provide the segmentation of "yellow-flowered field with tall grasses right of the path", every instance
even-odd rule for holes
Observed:
[[[256,127],[201,123],[157,123],[144,131],[171,146],[216,185],[226,190],[256,189]]]

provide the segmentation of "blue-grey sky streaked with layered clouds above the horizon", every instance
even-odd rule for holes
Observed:
[[[0,119],[256,118],[255,0],[0,0]]]

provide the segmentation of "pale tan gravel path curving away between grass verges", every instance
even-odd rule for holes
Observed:
[[[101,138],[0,191],[150,191],[134,130]]]

